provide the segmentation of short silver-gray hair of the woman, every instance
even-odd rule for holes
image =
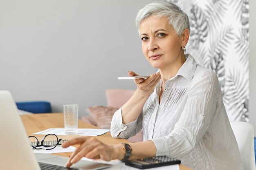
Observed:
[[[188,15],[172,2],[155,1],[140,9],[136,17],[136,26],[138,30],[141,22],[151,15],[157,17],[166,16],[169,24],[173,26],[179,36],[182,35],[184,29],[189,29],[190,31]]]

